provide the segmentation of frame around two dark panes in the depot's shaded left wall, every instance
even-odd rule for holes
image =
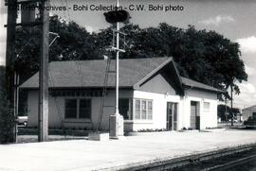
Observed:
[[[76,104],[77,104],[77,110],[76,110],[76,117],[66,117],[66,101],[67,100],[76,100]],[[80,101],[81,100],[90,100],[90,117],[89,118],[81,118],[80,117]],[[91,120],[92,119],[92,99],[91,98],[64,98],[64,119],[65,120],[72,120],[72,119],[75,119],[75,120],[86,120],[86,119],[89,119]]]

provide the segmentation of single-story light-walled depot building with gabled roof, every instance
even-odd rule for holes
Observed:
[[[110,70],[115,70],[111,60]],[[108,74],[100,116],[107,60],[49,63],[49,127],[93,129],[101,118],[108,130],[115,112],[115,74]],[[28,127],[38,124],[36,73],[20,86],[27,91]],[[217,127],[217,94],[223,91],[181,77],[172,58],[119,60],[119,113],[125,130]]]

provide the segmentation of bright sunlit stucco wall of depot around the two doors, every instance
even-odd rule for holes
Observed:
[[[177,103],[177,129],[191,127],[191,101],[199,103],[200,128],[217,127],[217,95],[196,91],[186,90],[186,95],[181,97],[172,94],[156,94],[142,91],[134,92],[135,98],[144,98],[153,100],[153,120],[141,121],[135,120],[134,130],[145,128],[166,128],[167,102]],[[205,111],[203,103],[210,103],[210,110]]]

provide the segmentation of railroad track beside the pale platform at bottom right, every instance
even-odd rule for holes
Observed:
[[[256,161],[256,144],[224,148],[176,159],[165,159],[158,161],[155,160],[147,163],[135,163],[126,165],[122,168],[119,167],[113,169],[123,171],[221,171],[229,170],[230,168],[253,161]]]

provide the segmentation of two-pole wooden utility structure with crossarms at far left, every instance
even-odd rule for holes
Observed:
[[[22,7],[27,4],[40,2],[41,4],[41,22],[35,22],[34,11],[27,9],[22,11],[22,23],[16,24],[17,19],[17,5],[22,4]],[[15,86],[18,85],[19,75],[15,73],[14,61],[15,56],[15,27],[27,26],[26,28],[31,33],[31,29],[28,26],[42,26],[42,43],[41,43],[41,59],[40,59],[40,71],[39,71],[39,114],[38,114],[38,141],[43,142],[48,138],[48,29],[49,29],[49,12],[45,10],[46,6],[49,6],[49,0],[34,0],[19,1],[7,0],[8,5],[8,29],[7,29],[7,51],[6,51],[6,87],[8,89],[8,101],[9,109],[12,114],[16,114],[18,111],[18,89],[15,90]],[[19,54],[18,54],[19,55]],[[18,58],[18,57],[17,57]],[[14,83],[15,82],[15,83]],[[15,88],[15,89],[14,89]],[[13,112],[14,111],[14,112]],[[15,115],[16,117],[16,115]],[[13,128],[13,142],[16,141],[16,126]]]

